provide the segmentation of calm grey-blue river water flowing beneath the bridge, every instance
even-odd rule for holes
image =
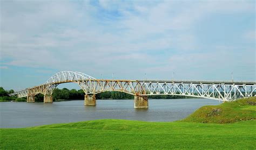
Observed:
[[[97,100],[49,103],[1,102],[1,127],[28,127],[96,119],[128,119],[147,122],[180,120],[203,105],[218,105],[211,99],[149,99],[149,109],[134,109],[133,100]]]

